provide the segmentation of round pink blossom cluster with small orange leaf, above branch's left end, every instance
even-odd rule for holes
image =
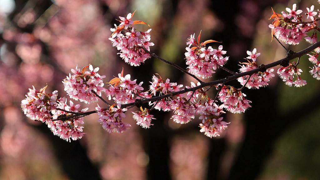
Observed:
[[[89,67],[89,71],[85,71]],[[100,76],[98,74],[99,67],[94,68],[92,65],[85,66],[82,70],[71,69],[69,76],[65,78],[62,83],[64,90],[70,96],[71,99],[79,100],[89,104],[90,102],[97,102],[98,97],[92,92],[101,96],[101,92],[104,90],[103,78],[106,76]]]

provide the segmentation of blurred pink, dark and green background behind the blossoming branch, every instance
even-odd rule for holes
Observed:
[[[189,85],[193,79],[156,59],[124,63],[108,40],[118,16],[137,10],[134,20],[151,25],[151,51],[184,68],[186,39],[202,29],[202,41],[222,41],[226,67],[237,71],[254,47],[258,63],[285,56],[270,42],[268,18],[271,7],[281,12],[293,3],[304,12],[320,8],[316,0],[0,0],[0,179],[320,179],[320,83],[308,73],[308,56],[299,65],[307,86],[288,87],[275,77],[266,88],[245,89],[252,108],[227,113],[231,124],[212,139],[199,132],[198,120],[180,125],[171,112],[153,111],[154,126],[142,129],[128,115],[132,128],[123,134],[108,134],[96,115],[87,116],[84,138],[67,143],[20,109],[32,85],[66,96],[61,81],[76,64],[99,66],[107,80],[124,67],[145,89],[154,73]],[[212,79],[227,75],[218,70]]]

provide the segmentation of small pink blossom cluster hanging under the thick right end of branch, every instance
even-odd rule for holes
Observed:
[[[295,87],[301,87],[307,84],[307,81],[301,79],[300,75],[302,70],[297,68],[298,63],[292,62],[289,63],[286,67],[281,67],[278,69],[277,74],[279,77],[285,82],[286,85]],[[293,81],[294,76],[297,77],[295,81]]]

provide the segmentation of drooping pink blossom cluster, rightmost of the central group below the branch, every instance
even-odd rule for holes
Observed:
[[[233,86],[222,86],[219,92],[219,99],[224,108],[232,113],[242,113],[251,107],[251,101],[245,99],[245,96],[241,89]]]

